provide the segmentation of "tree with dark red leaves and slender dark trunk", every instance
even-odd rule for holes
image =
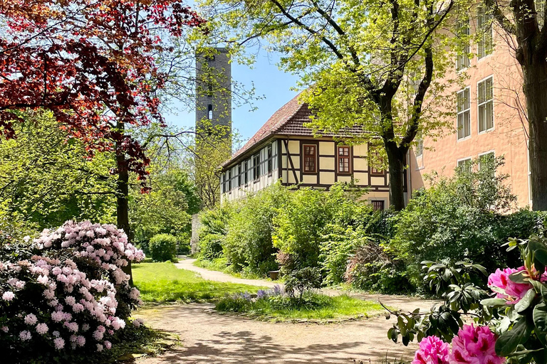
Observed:
[[[16,137],[19,112],[44,108],[90,157],[115,152],[118,227],[129,236],[129,173],[144,181],[149,159],[126,129],[163,124],[167,73],[156,60],[189,27],[206,31],[180,0],[0,0],[0,130]]]

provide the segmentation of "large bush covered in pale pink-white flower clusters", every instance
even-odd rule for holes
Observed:
[[[125,327],[125,320],[115,316],[116,294],[123,290],[130,304],[142,303],[122,270],[128,262],[144,259],[142,251],[127,242],[123,230],[88,221],[68,221],[55,231],[44,230],[33,243],[41,255],[19,262],[0,261],[0,278],[6,282],[0,284],[0,311],[12,313],[4,322],[7,325],[0,323],[0,342],[2,335],[14,335],[20,341],[31,341],[36,335],[49,340],[56,350],[86,343],[97,351],[110,349],[112,344],[105,339]],[[61,258],[70,255],[72,259]],[[18,311],[19,293],[29,286],[42,289],[31,305],[36,309]],[[12,333],[12,327],[17,332]]]

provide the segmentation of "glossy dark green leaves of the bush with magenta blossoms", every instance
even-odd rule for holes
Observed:
[[[496,333],[492,334],[490,344],[497,356],[506,357],[509,363],[547,363],[546,341],[546,299],[547,286],[547,239],[532,236],[528,240],[509,240],[508,251],[517,247],[521,251],[523,266],[517,269],[496,269],[490,274],[488,286],[495,297],[477,287],[469,272],[484,268],[476,264],[459,264],[454,269],[442,264],[427,262],[427,279],[438,291],[443,291],[444,304],[431,312],[412,314],[395,312],[397,325],[390,329],[388,336],[397,341],[400,334],[407,345],[415,335],[420,341],[424,336],[434,335],[450,342],[454,336],[453,352],[459,355],[472,355],[472,347],[464,347],[463,331],[473,328],[464,326],[462,315],[471,316],[475,323],[483,326],[476,328]],[[449,284],[447,283],[454,282]],[[484,327],[484,326],[489,326]],[[461,328],[461,329],[460,329]],[[462,343],[463,342],[463,343]],[[463,345],[463,346],[462,346]],[[465,354],[462,350],[467,351]],[[496,361],[502,363],[503,360]]]

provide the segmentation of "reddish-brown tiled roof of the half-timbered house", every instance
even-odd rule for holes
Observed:
[[[228,166],[232,161],[237,159],[241,154],[256,146],[264,139],[271,137],[274,134],[283,135],[301,135],[307,137],[313,137],[312,129],[305,127],[303,124],[310,122],[311,110],[306,103],[299,100],[301,94],[296,95],[291,101],[278,109],[271,115],[266,124],[262,125],[258,132],[246,142],[238,151],[232,154],[231,158],[225,161],[222,166]],[[362,134],[363,129],[355,126],[351,128],[344,128],[343,134],[333,133],[321,133],[325,137],[351,137]]]

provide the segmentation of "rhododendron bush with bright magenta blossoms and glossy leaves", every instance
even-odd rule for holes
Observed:
[[[449,283],[444,304],[429,312],[391,311],[397,323],[388,336],[395,342],[402,336],[405,345],[420,341],[413,364],[547,363],[546,242],[545,237],[510,240],[508,250],[518,247],[523,265],[496,269],[486,287],[463,269],[424,262],[432,286]],[[464,324],[469,321],[477,326]]]

